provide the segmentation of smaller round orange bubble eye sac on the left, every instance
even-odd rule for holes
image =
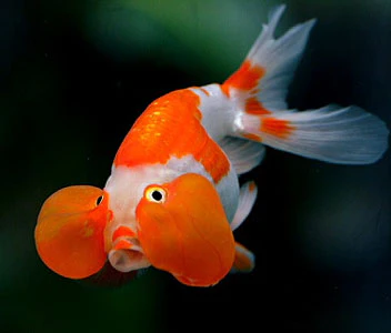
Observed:
[[[37,251],[56,273],[84,279],[103,268],[103,231],[111,219],[108,193],[94,186],[61,189],[43,203],[36,226]]]

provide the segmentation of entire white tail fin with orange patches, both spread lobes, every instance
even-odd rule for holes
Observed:
[[[389,135],[375,115],[358,107],[288,110],[288,85],[315,20],[294,26],[274,39],[284,8],[271,11],[244,62],[222,84],[239,110],[231,134],[332,163],[375,162],[385,152]]]

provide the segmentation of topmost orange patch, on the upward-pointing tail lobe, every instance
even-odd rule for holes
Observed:
[[[264,68],[252,64],[250,60],[245,60],[242,65],[225,80],[221,89],[227,95],[229,95],[230,88],[251,91],[258,87],[259,80],[264,73]]]

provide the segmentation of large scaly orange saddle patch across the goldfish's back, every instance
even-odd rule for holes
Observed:
[[[200,102],[200,97],[190,89],[157,99],[124,138],[114,165],[166,164],[173,157],[191,154],[218,183],[229,172],[230,164],[201,124]]]

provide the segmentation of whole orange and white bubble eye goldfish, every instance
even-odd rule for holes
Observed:
[[[369,164],[388,148],[383,121],[358,107],[289,109],[288,85],[315,20],[275,39],[274,8],[239,69],[222,84],[191,87],[153,101],[121,143],[103,190],[69,186],[42,205],[36,245],[70,279],[106,264],[154,266],[187,285],[209,286],[254,268],[233,231],[257,198],[238,176],[265,147],[341,164]]]

